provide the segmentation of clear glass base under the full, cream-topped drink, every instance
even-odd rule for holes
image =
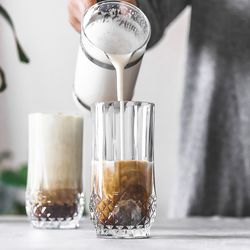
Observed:
[[[31,220],[31,224],[34,228],[38,229],[75,229],[79,227],[79,218],[65,221]]]

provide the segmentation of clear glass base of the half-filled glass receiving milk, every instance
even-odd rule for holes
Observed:
[[[115,239],[145,239],[150,236],[150,229],[97,229],[97,237]]]

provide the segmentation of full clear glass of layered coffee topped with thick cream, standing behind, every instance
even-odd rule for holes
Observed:
[[[29,115],[26,211],[37,228],[76,228],[83,212],[82,117]]]

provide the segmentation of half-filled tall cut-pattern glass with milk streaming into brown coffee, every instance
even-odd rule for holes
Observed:
[[[91,219],[97,236],[145,238],[156,211],[154,104],[92,107]]]

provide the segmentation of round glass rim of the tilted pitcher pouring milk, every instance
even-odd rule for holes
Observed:
[[[104,4],[108,4],[108,3],[114,3],[114,4],[119,4],[119,5],[123,5],[123,6],[127,6],[127,7],[130,7],[132,8],[134,11],[137,11],[138,13],[140,13],[144,20],[146,21],[149,29],[148,29],[148,34],[147,34],[147,38],[145,39],[145,41],[142,43],[142,45],[140,47],[138,47],[135,51],[138,51],[140,49],[142,49],[144,46],[147,45],[147,43],[149,42],[150,40],[150,37],[151,37],[151,24],[148,20],[148,17],[146,16],[146,14],[137,6],[135,6],[134,4],[131,4],[131,3],[128,3],[128,2],[125,2],[125,1],[119,1],[119,0],[106,0],[106,1],[102,1],[102,2],[97,2],[96,4],[92,5],[90,8],[88,8],[83,17],[82,17],[82,21],[81,21],[81,32],[80,32],[80,37],[81,37],[81,40],[82,40],[82,35],[84,35],[84,37],[87,39],[87,41],[92,45],[94,46],[95,48],[97,48],[98,50],[102,51],[96,44],[94,44],[87,36],[86,32],[85,32],[85,28],[83,27],[84,26],[84,18],[89,14],[89,12],[91,10],[93,10],[94,8],[96,8],[97,6],[101,6],[101,5],[104,5]],[[81,46],[83,46],[82,42],[81,42]],[[102,51],[104,53],[106,53],[106,51]]]

